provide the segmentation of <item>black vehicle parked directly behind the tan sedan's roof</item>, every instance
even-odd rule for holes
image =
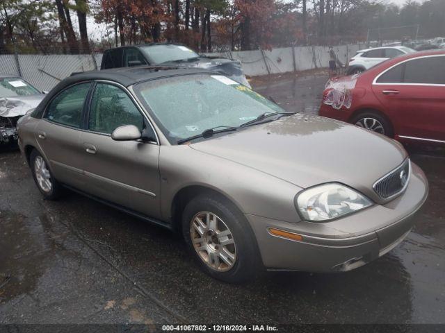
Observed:
[[[141,65],[208,69],[229,76],[232,80],[250,87],[241,68],[241,62],[238,60],[203,56],[181,44],[152,43],[106,50],[102,56],[100,68],[111,69]]]

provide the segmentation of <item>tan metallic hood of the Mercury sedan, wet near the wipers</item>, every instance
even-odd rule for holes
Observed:
[[[341,182],[378,203],[382,199],[373,191],[374,182],[407,157],[401,144],[387,137],[341,121],[304,114],[282,117],[190,146],[302,188]]]

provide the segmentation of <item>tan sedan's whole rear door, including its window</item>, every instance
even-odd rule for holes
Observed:
[[[91,83],[67,87],[54,97],[36,128],[36,140],[54,177],[67,185],[83,185],[79,146],[83,110]]]

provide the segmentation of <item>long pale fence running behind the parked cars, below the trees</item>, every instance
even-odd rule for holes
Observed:
[[[339,60],[347,64],[362,45],[334,46]],[[295,59],[293,59],[293,53]],[[248,76],[280,74],[291,71],[327,67],[329,65],[329,48],[327,46],[298,46],[292,53],[291,47],[272,49],[270,51],[234,51],[209,53],[209,56],[222,56],[241,61],[243,70]],[[91,71],[100,68],[102,54],[91,55],[19,55],[20,70],[25,80],[40,90],[52,89],[60,80],[74,72]],[[295,65],[294,65],[295,61]],[[0,74],[19,75],[14,55],[0,55]]]

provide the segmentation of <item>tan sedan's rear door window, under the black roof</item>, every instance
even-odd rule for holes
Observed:
[[[73,85],[60,92],[49,104],[46,119],[75,128],[81,127],[83,103],[90,83]]]

